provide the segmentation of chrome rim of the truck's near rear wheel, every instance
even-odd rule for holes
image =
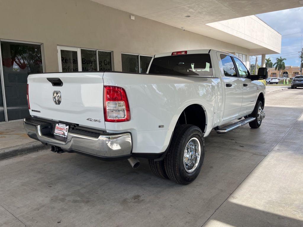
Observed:
[[[191,138],[185,146],[183,165],[186,172],[193,172],[200,161],[201,145],[197,138]]]

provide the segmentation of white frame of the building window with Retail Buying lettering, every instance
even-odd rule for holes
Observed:
[[[65,51],[77,51],[78,71],[82,72],[81,49],[96,51],[97,71],[99,71],[98,51],[110,52],[111,53],[111,61],[112,61],[112,71],[114,71],[113,51],[105,51],[105,50],[99,50],[99,49],[81,48],[81,47],[69,47],[69,46],[57,45],[59,72],[62,72],[61,50],[65,50]],[[79,70],[79,69],[81,69],[81,70]]]

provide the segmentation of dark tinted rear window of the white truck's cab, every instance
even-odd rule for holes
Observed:
[[[149,74],[176,76],[211,76],[209,54],[184,54],[154,58]]]

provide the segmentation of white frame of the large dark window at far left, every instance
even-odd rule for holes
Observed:
[[[24,43],[24,44],[36,44],[40,45],[41,47],[41,58],[42,58],[42,71],[45,72],[45,59],[44,59],[44,49],[42,43],[36,43],[36,42],[27,42],[27,41],[18,41],[18,40],[10,40],[10,39],[0,39],[0,43],[2,42],[14,42],[14,43]],[[3,108],[4,108],[4,118],[5,121],[0,123],[6,123],[6,122],[13,122],[13,121],[20,121],[23,119],[18,120],[10,120],[8,121],[8,115],[7,115],[7,106],[6,106],[6,96],[5,96],[5,85],[4,85],[4,74],[3,74],[3,66],[2,66],[2,52],[1,52],[1,46],[0,46],[0,77],[1,77],[1,85],[2,85],[2,97],[3,97]]]

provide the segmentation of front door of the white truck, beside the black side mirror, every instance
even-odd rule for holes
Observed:
[[[243,98],[239,114],[241,115],[244,113],[251,113],[256,103],[255,99],[257,95],[257,84],[255,84],[253,81],[251,81],[251,79],[249,79],[250,73],[243,64],[243,62],[240,61],[238,58],[233,58],[237,66],[238,75],[243,85]]]

